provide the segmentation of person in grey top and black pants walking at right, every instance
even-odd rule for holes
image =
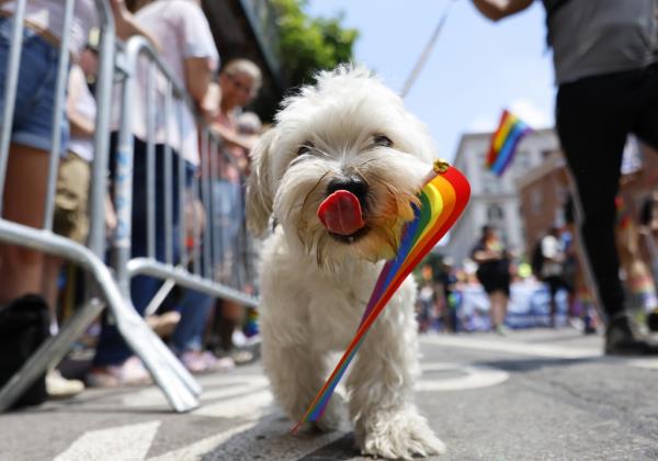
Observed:
[[[473,0],[498,21],[532,0]],[[628,134],[658,147],[657,0],[543,0],[558,85],[556,123],[575,185],[578,228],[594,296],[605,313],[605,353],[658,355],[624,307],[614,199]]]

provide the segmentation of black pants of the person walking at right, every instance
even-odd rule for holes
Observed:
[[[593,289],[610,318],[624,310],[614,239],[622,154],[631,133],[658,148],[658,65],[561,85],[556,112]]]

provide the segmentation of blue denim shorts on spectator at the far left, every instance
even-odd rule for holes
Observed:
[[[13,19],[0,16],[0,126],[4,110]],[[53,138],[55,86],[59,49],[30,27],[23,29],[23,49],[14,105],[11,143],[49,151]],[[69,125],[66,103],[61,106],[61,151],[66,154]]]

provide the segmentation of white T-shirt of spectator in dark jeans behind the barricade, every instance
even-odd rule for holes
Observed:
[[[207,58],[209,67],[216,69],[219,55],[211,33],[211,26],[201,8],[189,0],[159,0],[139,10],[135,18],[159,42],[160,56],[169,68],[185,85],[185,59]],[[144,59],[146,61],[146,59]],[[133,101],[133,134],[146,140],[147,111],[146,88],[148,67],[140,63],[137,72],[137,87]],[[194,116],[184,103],[174,103],[173,112],[164,113],[164,85],[159,79],[157,86],[156,142],[169,144],[185,160],[198,165],[198,136]],[[178,123],[180,113],[181,123]],[[163,120],[167,119],[167,122]],[[167,134],[166,127],[169,127]],[[182,142],[181,142],[182,136]]]

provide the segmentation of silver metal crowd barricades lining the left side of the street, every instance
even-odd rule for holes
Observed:
[[[68,35],[73,14],[73,1],[66,0],[65,31],[60,44],[59,72],[57,77],[57,97],[54,112],[54,120],[60,121],[61,108],[65,103],[65,89],[68,69]],[[98,113],[95,120],[94,135],[94,158],[91,172],[90,184],[90,235],[88,246],[75,243],[53,234],[53,209],[55,184],[57,176],[59,146],[59,123],[54,124],[53,143],[50,149],[50,171],[48,177],[46,216],[42,228],[33,228],[10,222],[0,217],[0,240],[5,244],[13,244],[43,251],[49,255],[56,255],[79,263],[84,268],[91,278],[97,282],[101,293],[101,299],[91,297],[81,306],[76,314],[61,326],[59,333],[45,341],[38,350],[27,360],[27,362],[0,389],[0,413],[10,408],[11,405],[23,394],[23,392],[36,380],[43,375],[45,370],[59,362],[70,350],[72,342],[84,331],[102,312],[105,305],[110,308],[118,330],[135,353],[145,363],[148,371],[154,376],[155,382],[161,387],[170,405],[177,412],[186,412],[198,405],[197,396],[201,387],[192,375],[182,367],[179,360],[164,346],[160,338],[146,325],[144,319],[135,312],[129,297],[128,283],[131,277],[137,273],[150,274],[161,279],[173,279],[183,286],[200,290],[213,295],[222,296],[228,300],[238,301],[246,305],[256,305],[256,300],[246,295],[237,289],[225,286],[215,281],[215,270],[213,265],[215,259],[211,258],[213,251],[207,251],[208,245],[203,246],[204,255],[208,252],[204,265],[194,263],[193,272],[184,267],[174,266],[168,258],[167,262],[156,261],[152,257],[129,259],[129,232],[131,232],[131,204],[132,204],[132,157],[133,143],[129,134],[129,123],[122,124],[120,134],[120,148],[117,154],[117,180],[115,191],[117,196],[117,214],[120,221],[120,232],[115,239],[115,252],[118,256],[114,268],[115,273],[105,265],[105,226],[104,226],[104,198],[106,194],[106,167],[109,162],[109,136],[110,136],[110,109],[112,105],[112,89],[115,77],[115,34],[114,21],[110,4],[105,0],[94,0],[100,18],[101,40],[99,46],[100,66],[97,79],[97,104]],[[0,204],[2,203],[2,193],[4,189],[4,179],[7,173],[7,162],[9,157],[9,146],[11,142],[11,125],[15,103],[15,92],[19,78],[19,66],[22,50],[23,20],[25,13],[26,0],[18,0],[14,12],[14,25],[12,34],[11,50],[8,63],[8,72],[4,85],[4,102],[2,130],[0,132]],[[131,111],[129,97],[134,90],[134,77],[136,72],[136,58],[140,53],[149,56],[159,71],[168,79],[172,90],[171,94],[178,98],[186,99],[184,88],[175,81],[173,75],[157,57],[150,45],[140,37],[128,41],[125,54],[125,85],[123,89],[123,114],[129,122]],[[150,113],[155,113],[150,111]],[[204,136],[211,136],[206,133]],[[212,137],[212,136],[211,136]],[[149,139],[149,143],[152,139]],[[206,139],[207,155],[208,146],[215,145]],[[152,158],[150,159],[152,160]],[[180,176],[179,176],[180,178]],[[152,179],[152,178],[151,178]],[[204,182],[204,181],[202,181]],[[200,188],[203,196],[203,203],[212,209],[213,203],[208,193],[203,193],[208,189],[208,179]],[[180,188],[181,184],[179,183]],[[182,190],[181,194],[182,195]],[[182,207],[183,203],[179,202]],[[127,212],[127,213],[126,213]],[[154,233],[152,211],[149,211],[149,234]],[[184,218],[181,220],[184,223]],[[206,235],[212,234],[212,225],[208,223]],[[126,239],[127,237],[127,239]],[[171,236],[171,238],[177,238]],[[181,235],[178,238],[182,238]],[[126,245],[127,243],[127,245]],[[216,243],[215,243],[216,244]],[[214,245],[215,245],[214,244]],[[149,244],[152,245],[152,244]],[[183,247],[184,248],[184,247]],[[201,251],[202,246],[195,245],[195,251]],[[149,255],[152,256],[152,248]],[[186,255],[186,252],[184,252]],[[188,256],[189,258],[189,256]],[[184,266],[184,265],[183,265]]]

